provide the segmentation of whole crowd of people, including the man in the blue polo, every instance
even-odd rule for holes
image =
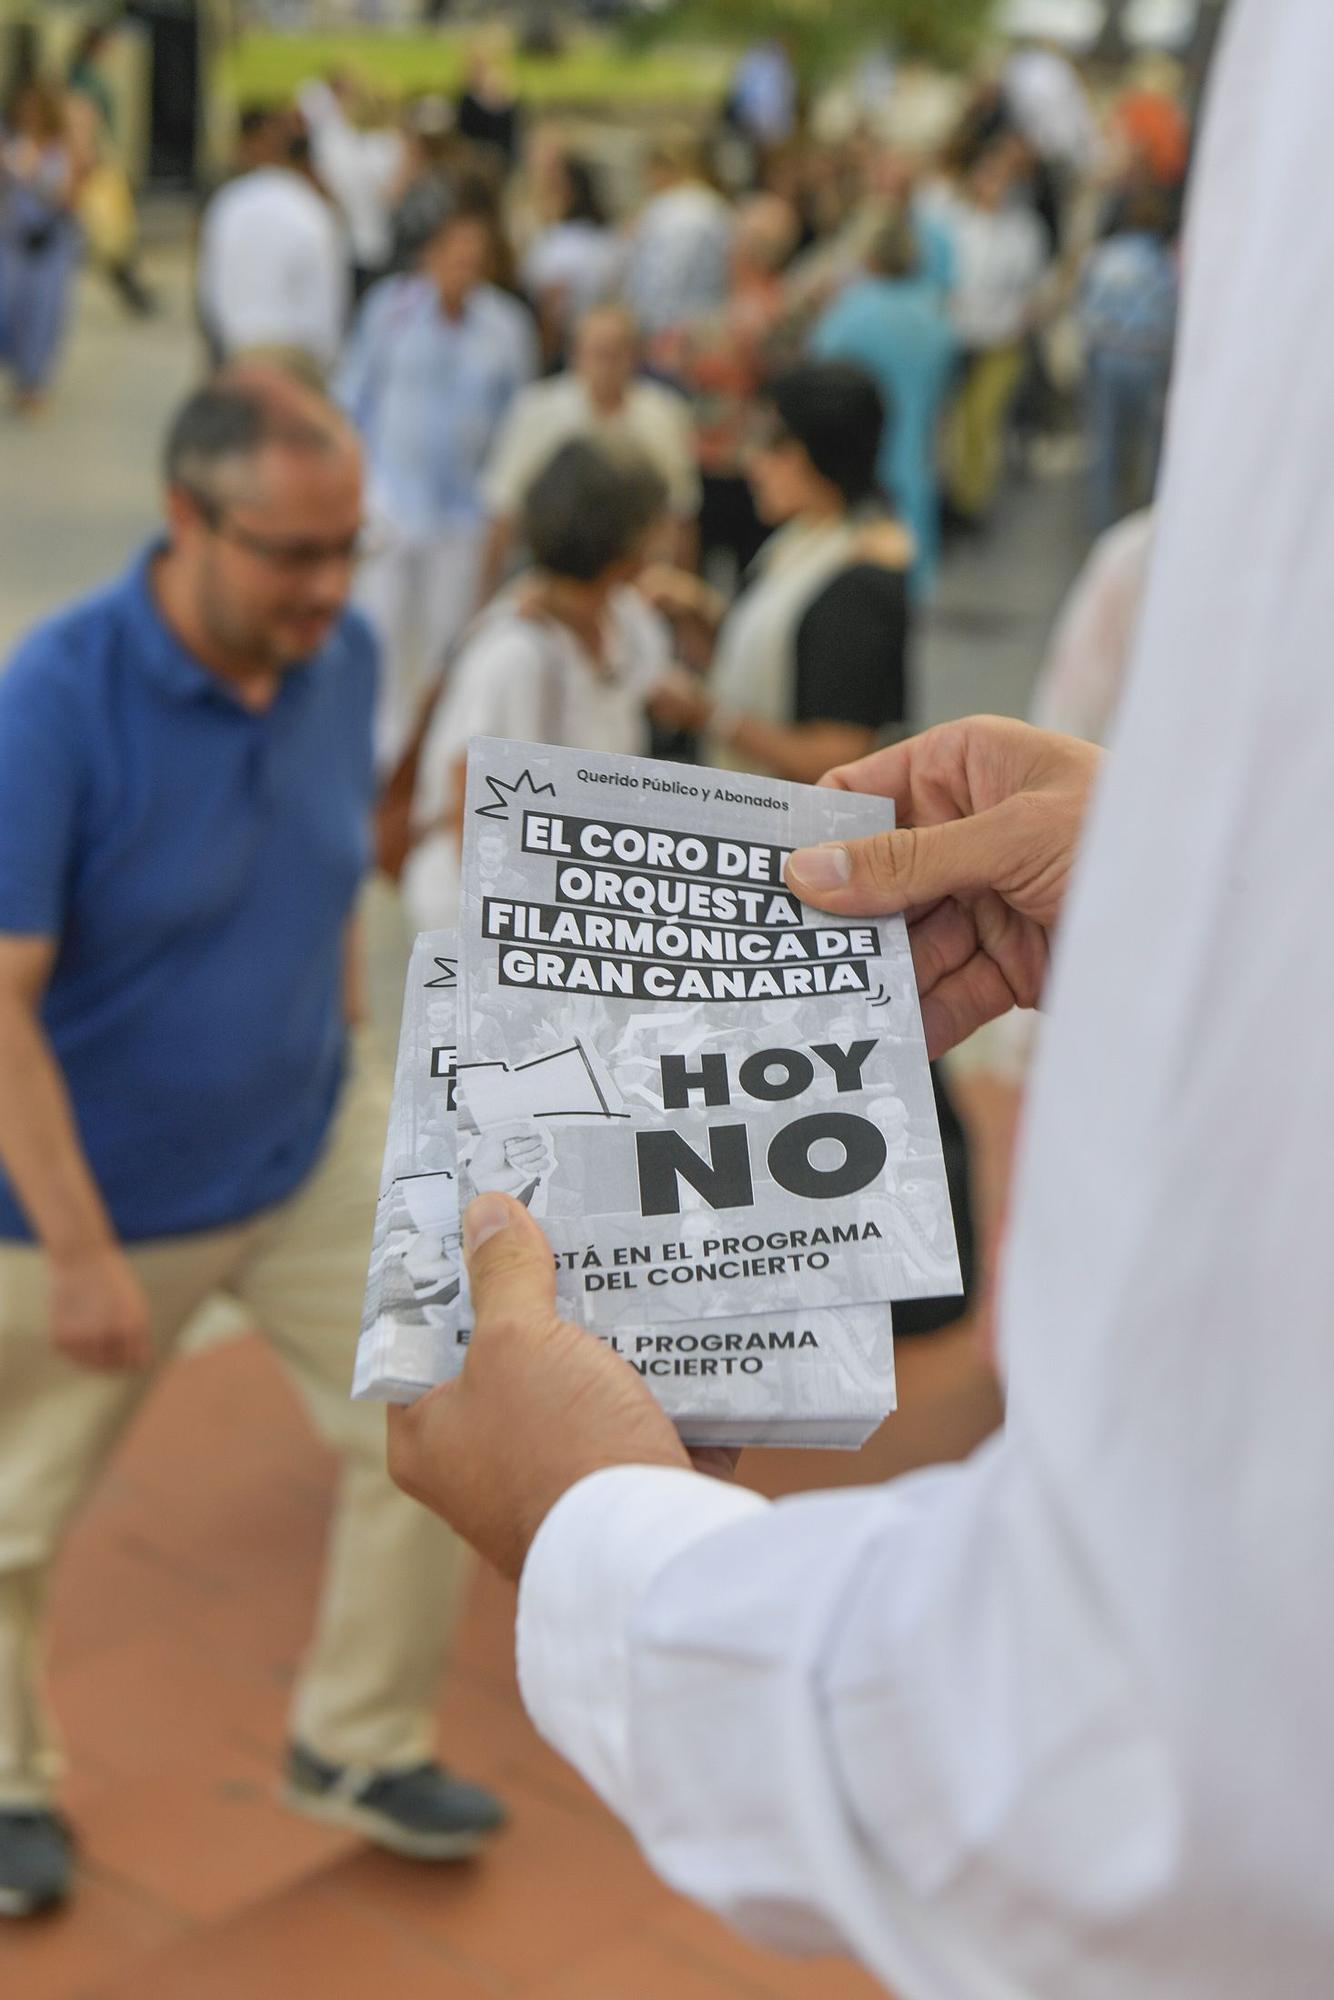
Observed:
[[[154,310],[100,58],[84,38],[4,114],[0,360],[26,416],[84,258]],[[778,44],[692,132],[534,120],[490,44],[458,98],[386,106],[330,74],[240,108],[198,212],[208,366],[168,436],[164,536],[0,676],[0,1280],[30,1370],[0,1422],[16,1504],[40,1496],[0,1596],[0,1914],[70,1886],[40,1578],[214,1294],[346,1468],[290,1802],[434,1858],[500,1824],[430,1762],[456,1582],[346,1396],[386,1116],[348,1056],[354,912],[454,918],[478,734],[800,782],[892,740],[942,562],[1080,428],[1090,530],[1116,540],[1044,700],[1098,734],[1150,532],[1188,148],[1168,76],[1094,96],[1042,46],[916,150],[866,122],[812,136]],[[920,1300],[896,1332],[956,1314]]]

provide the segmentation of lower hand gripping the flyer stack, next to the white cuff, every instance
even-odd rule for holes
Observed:
[[[462,1374],[390,1410],[390,1474],[506,1576],[560,1496],[604,1466],[690,1466],[636,1372],[556,1312],[546,1236],[514,1200],[464,1214],[472,1338]],[[726,1464],[710,1454],[700,1470]]]

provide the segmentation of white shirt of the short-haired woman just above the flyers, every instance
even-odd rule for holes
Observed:
[[[670,632],[638,590],[616,590],[606,612],[606,660],[596,668],[568,626],[520,618],[516,592],[478,618],[422,744],[412,822],[430,828],[408,856],[402,892],[418,930],[458,916],[458,842],[440,828],[454,772],[474,736],[568,744],[642,756],[644,698],[672,656]]]

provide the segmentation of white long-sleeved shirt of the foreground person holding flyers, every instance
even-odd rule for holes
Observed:
[[[668,1882],[900,2000],[1334,1980],[1334,10],[1242,0],[1218,64],[1004,1434],[778,1506],[600,1472],[520,1588],[538,1728]]]

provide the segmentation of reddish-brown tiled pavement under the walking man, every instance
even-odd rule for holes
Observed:
[[[974,1106],[986,1102],[974,1092]],[[986,1206],[1004,1120],[984,1116]],[[900,1414],[856,1458],[754,1454],[768,1492],[954,1456],[996,1420],[970,1328],[900,1350]],[[396,1862],[274,1800],[332,1464],[268,1354],[180,1364],[72,1536],[52,1692],[82,1890],[0,1924],[4,2000],[872,2000],[842,1962],[756,1952],[662,1888],[532,1732],[512,1592],[478,1572],[442,1744],[514,1822],[484,1860]]]

